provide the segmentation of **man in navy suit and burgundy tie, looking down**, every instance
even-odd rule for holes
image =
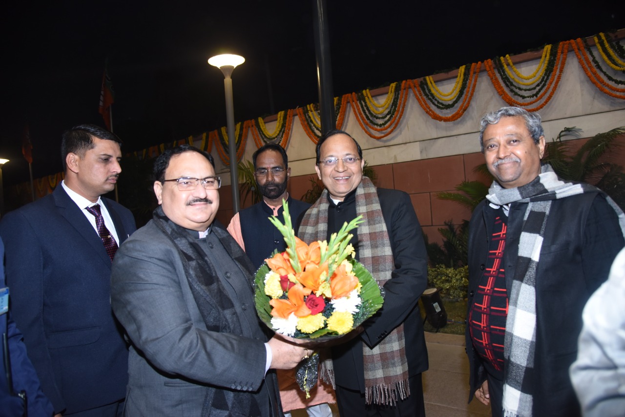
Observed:
[[[101,198],[121,172],[120,143],[98,126],[66,131],[64,181],[0,222],[12,313],[56,414],[121,412],[128,349],[111,310],[111,259],[136,226]]]

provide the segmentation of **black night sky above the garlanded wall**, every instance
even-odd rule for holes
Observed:
[[[549,3],[550,6],[544,6]],[[236,122],[316,103],[312,1],[36,1],[0,12],[4,185],[61,171],[61,133],[98,113],[104,61],[123,152],[226,125],[223,76],[206,59],[236,53]],[[327,0],[334,96],[625,28],[622,0]],[[441,6],[441,8],[436,8]]]

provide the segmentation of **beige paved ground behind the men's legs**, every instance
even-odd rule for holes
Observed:
[[[427,417],[490,416],[491,408],[469,398],[469,363],[464,353],[464,336],[426,332],[429,370],[423,374],[423,397]],[[334,417],[338,417],[332,404]],[[292,417],[306,417],[304,410]]]

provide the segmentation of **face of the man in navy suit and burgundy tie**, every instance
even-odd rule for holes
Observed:
[[[121,166],[121,149],[116,141],[93,138],[93,148],[84,154],[68,153],[66,156],[66,185],[84,198],[95,203],[98,197],[113,191]]]

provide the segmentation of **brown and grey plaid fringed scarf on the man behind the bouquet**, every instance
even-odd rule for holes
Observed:
[[[299,238],[304,242],[327,239],[328,207],[325,189],[316,203],[306,211],[299,226]],[[371,272],[379,286],[383,286],[391,279],[394,260],[376,187],[367,177],[362,177],[356,188],[356,214],[364,217],[364,223],[358,226],[358,259]],[[373,349],[362,343],[362,352],[367,404],[392,406],[399,399],[406,399],[410,395],[403,324]],[[335,386],[331,359],[322,363],[321,375],[324,381]]]

